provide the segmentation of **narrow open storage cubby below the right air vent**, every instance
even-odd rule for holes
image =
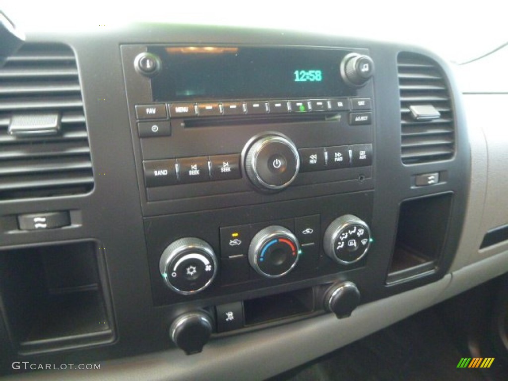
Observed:
[[[387,283],[436,271],[446,239],[452,194],[404,201]]]

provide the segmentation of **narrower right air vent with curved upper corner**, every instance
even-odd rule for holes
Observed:
[[[447,81],[438,64],[416,53],[397,59],[402,162],[428,163],[454,154],[455,124]]]

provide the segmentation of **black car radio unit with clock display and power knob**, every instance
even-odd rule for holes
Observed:
[[[121,53],[147,214],[372,189],[367,49],[123,45]]]

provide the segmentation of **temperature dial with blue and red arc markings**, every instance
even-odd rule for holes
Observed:
[[[281,226],[269,226],[250,241],[249,263],[267,278],[288,274],[298,263],[300,244],[295,235]]]

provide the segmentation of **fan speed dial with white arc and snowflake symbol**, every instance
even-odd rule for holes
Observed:
[[[206,289],[217,273],[212,247],[199,238],[180,238],[163,251],[159,270],[166,285],[182,295]]]

